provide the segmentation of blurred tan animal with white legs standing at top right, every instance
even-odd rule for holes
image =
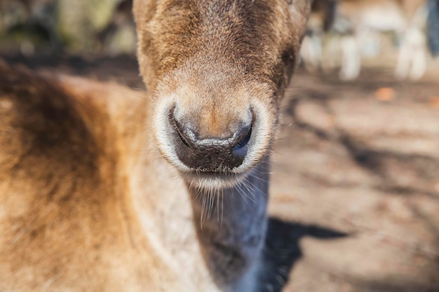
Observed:
[[[364,42],[374,32],[394,32],[400,40],[395,76],[418,80],[426,71],[426,19],[426,0],[339,0],[332,24],[342,35],[339,77],[358,78]]]

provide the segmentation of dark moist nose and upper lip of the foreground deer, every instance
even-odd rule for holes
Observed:
[[[190,123],[179,122],[172,114],[170,118],[175,125],[173,141],[177,156],[187,167],[201,172],[227,172],[243,163],[252,123],[234,123],[220,137],[201,137]]]

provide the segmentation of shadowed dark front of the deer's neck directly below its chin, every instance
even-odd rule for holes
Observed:
[[[230,291],[241,291],[241,285],[248,288],[243,281],[257,272],[266,234],[268,188],[269,158],[233,188],[215,192],[188,188],[205,263],[217,275],[217,284]]]

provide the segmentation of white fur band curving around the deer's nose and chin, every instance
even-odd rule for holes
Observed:
[[[154,139],[163,158],[180,172],[188,186],[204,190],[233,188],[252,175],[255,167],[269,155],[274,140],[273,133],[276,132],[274,130],[276,129],[276,118],[274,117],[276,109],[269,110],[266,103],[260,102],[259,99],[252,99],[247,106],[248,111],[251,112],[250,134],[245,145],[236,150],[243,156],[241,164],[227,167],[227,165],[221,165],[215,161],[215,158],[212,158],[212,165],[205,167],[187,165],[182,161],[181,155],[180,157],[178,155],[178,147],[187,147],[187,144],[182,141],[182,137],[170,120],[170,113],[178,104],[179,97],[175,93],[165,97],[156,97],[153,118]],[[206,155],[210,154],[206,153]]]

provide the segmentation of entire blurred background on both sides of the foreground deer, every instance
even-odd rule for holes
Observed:
[[[131,1],[0,0],[0,58],[144,88]],[[264,291],[439,291],[439,1],[316,0],[273,155]]]

